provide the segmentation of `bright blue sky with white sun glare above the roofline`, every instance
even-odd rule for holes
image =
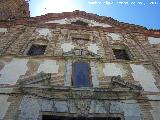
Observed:
[[[29,5],[31,17],[81,10],[160,29],[160,0],[29,0]]]

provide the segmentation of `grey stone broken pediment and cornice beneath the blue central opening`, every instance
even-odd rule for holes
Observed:
[[[71,98],[71,99],[107,99],[111,93],[112,98],[117,99],[116,94],[130,97],[139,96],[143,89],[138,84],[127,82],[120,76],[114,76],[108,88],[76,88],[76,87],[60,87],[56,88],[51,86],[49,80],[51,79],[50,73],[38,73],[32,77],[19,79],[19,90],[24,94],[32,94],[36,96],[44,96],[49,98]],[[41,83],[41,84],[40,84]],[[40,93],[40,94],[39,94]],[[44,94],[45,93],[45,94]],[[100,95],[100,96],[99,96]]]

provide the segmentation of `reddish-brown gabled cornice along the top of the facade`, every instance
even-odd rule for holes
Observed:
[[[110,24],[112,27],[84,27],[74,25],[59,25],[54,23],[45,23],[48,20],[59,20],[64,18],[82,17],[96,22]],[[141,33],[145,36],[160,37],[160,30],[147,29],[143,26],[119,22],[111,17],[99,16],[84,11],[73,11],[63,13],[48,13],[37,17],[16,18],[12,20],[0,21],[0,27],[14,27],[16,25],[26,25],[31,27],[48,27],[48,28],[67,28],[67,29],[85,29],[85,30],[103,30],[107,32],[128,32],[128,33]]]

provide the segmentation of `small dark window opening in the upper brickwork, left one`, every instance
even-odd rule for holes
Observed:
[[[47,47],[46,45],[32,45],[27,55],[31,55],[31,56],[43,55],[46,47]]]

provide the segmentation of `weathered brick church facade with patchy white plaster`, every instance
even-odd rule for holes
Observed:
[[[2,2],[0,120],[160,119],[159,30]]]

